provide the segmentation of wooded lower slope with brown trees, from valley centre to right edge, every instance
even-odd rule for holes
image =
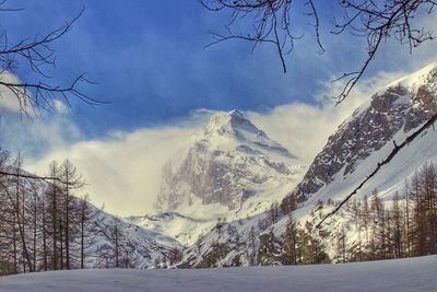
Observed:
[[[222,220],[206,250],[201,240],[192,247],[202,255],[193,266],[307,265],[437,254],[437,167],[433,163],[405,179],[401,192],[385,200],[375,189],[363,200],[346,202],[341,213],[317,229],[323,212],[340,203],[318,201],[310,220],[297,222],[290,211],[297,208],[296,200],[287,197],[286,205],[272,203],[248,231],[239,231],[241,220]],[[272,225],[282,220],[287,220],[285,231],[275,232]]]

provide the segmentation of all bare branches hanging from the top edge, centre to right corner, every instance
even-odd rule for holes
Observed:
[[[229,40],[241,39],[253,44],[276,47],[283,71],[286,72],[285,55],[290,54],[297,38],[294,35],[298,23],[291,13],[303,13],[309,17],[319,52],[324,51],[321,42],[321,12],[341,11],[342,17],[333,19],[332,25],[326,27],[333,35],[345,32],[366,39],[365,61],[358,69],[345,72],[336,81],[344,81],[341,93],[335,97],[338,103],[346,98],[356,83],[366,72],[376,52],[389,39],[406,44],[410,50],[426,40],[433,39],[432,30],[424,28],[414,19],[434,14],[435,0],[338,0],[336,7],[322,10],[314,0],[200,0],[210,11],[229,11],[229,22],[225,33],[211,33],[213,40],[206,47]],[[319,13],[320,12],[320,13]],[[332,15],[327,15],[332,19]],[[249,25],[247,24],[249,22]],[[324,28],[324,27],[323,27]],[[239,30],[239,31],[237,31]]]

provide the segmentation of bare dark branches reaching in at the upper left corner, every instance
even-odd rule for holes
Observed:
[[[0,1],[1,13],[19,13],[22,10],[9,8],[7,4],[7,0]],[[56,66],[52,44],[72,28],[83,11],[82,9],[76,16],[48,33],[23,38],[17,43],[11,43],[5,31],[0,35],[0,89],[2,94],[11,93],[16,98],[21,113],[29,115],[37,109],[50,112],[55,100],[62,100],[70,105],[71,97],[88,105],[102,104],[81,91],[81,83],[92,83],[85,73],[75,77],[68,85],[54,83],[54,78],[47,73],[47,67]],[[17,67],[33,71],[36,79],[21,80],[15,72]]]

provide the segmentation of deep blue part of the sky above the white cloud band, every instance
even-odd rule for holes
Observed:
[[[343,54],[349,46],[331,49],[331,40],[329,51],[317,55],[309,32],[288,56],[287,74],[268,46],[253,54],[238,42],[204,49],[211,42],[208,32],[220,32],[228,15],[209,12],[197,0],[17,0],[9,5],[25,9],[2,15],[11,39],[48,32],[85,7],[73,30],[54,46],[54,82],[66,84],[86,72],[98,85],[83,91],[110,102],[90,108],[72,101],[74,121],[86,137],[167,122],[196,108],[264,110],[293,101],[315,103],[320,82],[359,59]],[[29,78],[25,70],[17,72]]]

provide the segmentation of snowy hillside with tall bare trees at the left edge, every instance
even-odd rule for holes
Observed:
[[[10,166],[3,164],[0,167],[4,171]],[[32,177],[27,172],[20,173]],[[57,255],[62,264],[68,258],[71,268],[81,267],[82,264],[86,268],[110,268],[121,259],[123,262],[120,266],[123,267],[151,268],[164,254],[170,254],[175,248],[182,249],[173,236],[143,229],[109,214],[87,200],[71,195],[71,189],[67,203],[63,185],[58,184],[54,187],[52,183],[44,179],[16,179],[15,176],[3,175],[0,177],[0,184],[2,199],[0,234],[3,247],[0,258],[4,266],[12,265],[8,260],[13,252],[4,248],[9,241],[12,245],[15,243],[17,261],[24,262],[22,255],[27,255],[27,262],[34,262],[28,266],[32,268],[34,266],[35,270],[43,270],[44,265],[48,265],[50,269],[51,262],[55,261],[54,255]],[[11,209],[19,210],[21,217],[16,219],[16,211],[11,213]],[[68,220],[66,210],[69,212]],[[12,225],[13,222],[22,226],[20,242],[9,235],[13,232],[13,229],[12,231],[9,229],[9,224]],[[51,224],[51,222],[57,223]],[[69,233],[69,240],[66,240],[66,231]],[[52,244],[54,242],[56,244]],[[69,244],[68,252],[66,243]],[[56,247],[59,247],[59,253],[52,252]],[[24,264],[20,265],[16,272],[25,271],[23,266]],[[4,273],[8,271],[8,269],[5,272],[2,270]]]

